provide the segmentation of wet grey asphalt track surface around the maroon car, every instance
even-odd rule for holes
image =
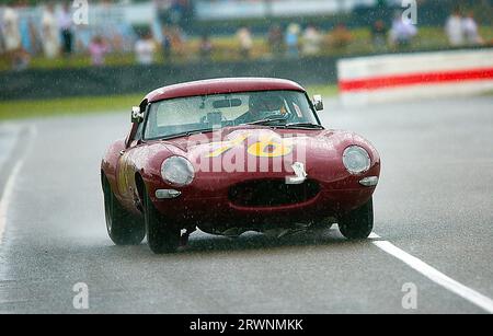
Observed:
[[[381,240],[493,298],[493,97],[368,108],[332,102],[321,117],[381,154]],[[99,164],[127,123],[127,113],[14,123],[36,132],[10,159],[25,158],[0,244],[0,313],[78,313],[77,282],[89,287],[89,313],[485,312],[371,240],[345,241],[336,227],[274,241],[195,233],[187,251],[165,256],[146,244],[114,246]],[[10,172],[1,175],[5,185]],[[416,310],[402,306],[409,282]]]

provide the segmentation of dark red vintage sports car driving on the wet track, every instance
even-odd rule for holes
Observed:
[[[240,235],[334,222],[347,239],[374,225],[380,174],[362,137],[325,129],[299,84],[216,79],[165,86],[131,112],[101,166],[107,231],[118,245],[175,251],[197,227]]]

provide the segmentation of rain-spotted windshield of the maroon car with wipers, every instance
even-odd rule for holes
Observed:
[[[160,139],[239,125],[319,125],[303,92],[262,91],[190,96],[153,103],[145,138]]]

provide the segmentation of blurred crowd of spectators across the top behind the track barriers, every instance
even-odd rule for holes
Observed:
[[[76,25],[71,2],[51,2],[35,8],[0,5],[0,55],[13,69],[24,69],[33,57],[47,60],[70,59],[73,55],[87,55],[93,66],[104,66],[108,54],[134,55],[140,65],[151,65],[164,59],[190,58],[190,39],[185,32],[193,18],[190,0],[153,0],[156,18],[148,28],[135,28],[118,14],[118,5],[101,1],[102,10],[89,25]],[[104,7],[106,5],[106,7]],[[354,40],[353,32],[344,24],[323,31],[316,24],[293,22],[282,26],[273,24],[267,34],[253,33],[241,26],[236,36],[236,59],[259,57],[255,42],[262,39],[271,57],[299,58],[344,50]],[[416,25],[402,20],[395,13],[393,20],[380,18],[369,26],[370,43],[375,50],[409,47],[419,35]],[[472,13],[462,15],[455,11],[445,26],[450,46],[479,45],[483,43]],[[217,39],[202,34],[194,49],[194,58],[211,60],[218,48]]]

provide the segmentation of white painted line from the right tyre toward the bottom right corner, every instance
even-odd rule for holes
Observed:
[[[371,233],[371,239],[379,239],[375,233]],[[417,270],[420,274],[432,280],[433,282],[446,288],[447,290],[456,293],[457,296],[468,300],[469,302],[480,306],[481,309],[485,310],[490,314],[493,314],[493,300],[477,292],[473,289],[470,289],[469,287],[463,286],[462,283],[451,279],[450,277],[444,275],[439,270],[433,268],[428,264],[420,260],[419,258],[410,255],[405,251],[402,251],[401,248],[397,247],[390,242],[387,241],[376,241],[372,242],[375,246],[382,250],[383,252],[394,256],[395,258],[400,259],[414,270]]]

